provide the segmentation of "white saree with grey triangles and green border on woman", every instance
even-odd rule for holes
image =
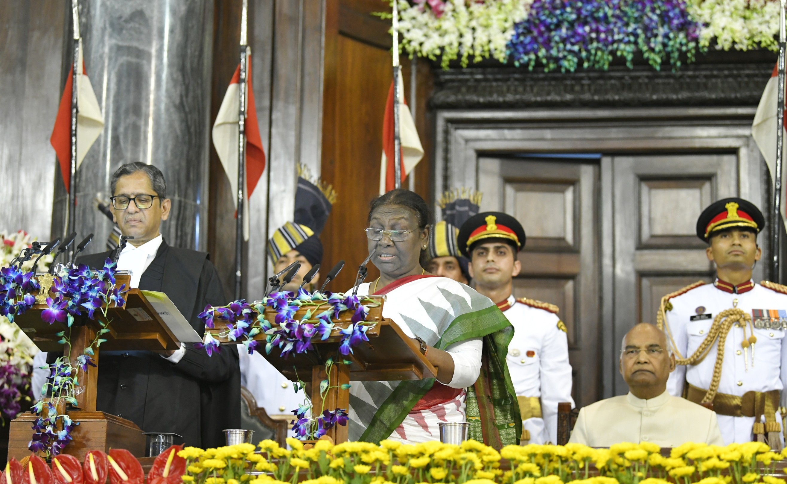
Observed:
[[[406,334],[418,336],[437,349],[471,338],[483,339],[485,364],[478,379],[481,386],[476,383],[474,398],[467,400],[471,436],[483,436],[495,446],[498,442],[518,443],[522,421],[505,364],[514,331],[511,323],[488,297],[452,279],[419,277],[391,289],[394,284],[377,291],[387,295],[382,316],[393,320]],[[388,438],[434,381],[353,382],[349,440],[379,442]],[[471,416],[476,419],[471,420]]]

